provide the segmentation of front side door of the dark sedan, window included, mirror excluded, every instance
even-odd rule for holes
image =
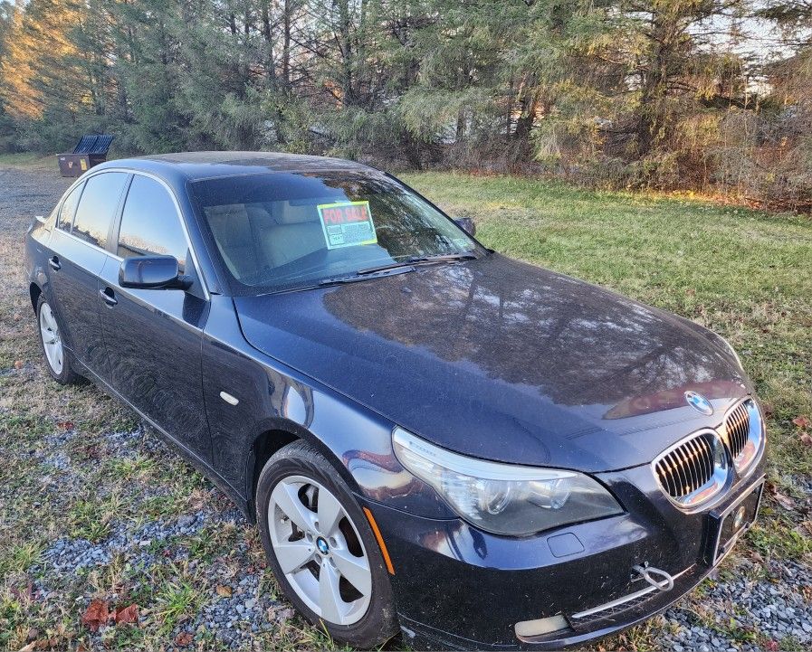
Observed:
[[[116,255],[105,263],[99,286],[110,384],[161,430],[209,462],[200,369],[209,306],[174,195],[156,178],[133,175],[114,231]],[[120,287],[121,260],[150,254],[175,256],[192,286]]]

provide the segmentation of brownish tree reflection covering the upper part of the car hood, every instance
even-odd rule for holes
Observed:
[[[689,384],[731,373],[723,354],[709,359],[706,341],[660,311],[494,259],[410,274],[399,291],[339,288],[324,307],[349,326],[537,387],[561,405],[616,405],[664,388],[683,402]]]

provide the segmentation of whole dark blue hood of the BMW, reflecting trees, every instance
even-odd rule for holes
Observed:
[[[750,389],[700,326],[495,253],[234,304],[264,354],[477,458],[636,466]]]

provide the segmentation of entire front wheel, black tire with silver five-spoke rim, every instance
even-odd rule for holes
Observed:
[[[354,647],[397,631],[387,569],[349,487],[303,441],[277,451],[257,484],[265,554],[284,594],[316,626]]]

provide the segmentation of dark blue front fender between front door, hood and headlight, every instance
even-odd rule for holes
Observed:
[[[397,461],[394,423],[254,349],[230,298],[212,297],[203,347],[215,471],[244,497],[245,507],[253,502],[254,444],[264,433],[281,431],[309,441],[369,501],[454,517],[432,487]]]

